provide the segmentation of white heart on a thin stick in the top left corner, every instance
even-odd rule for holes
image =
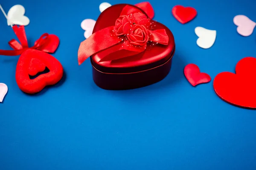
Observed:
[[[8,11],[8,19],[11,23],[19,26],[27,26],[29,25],[29,18],[24,16],[25,8],[22,5],[15,5]],[[11,25],[9,21],[7,21],[8,26]]]

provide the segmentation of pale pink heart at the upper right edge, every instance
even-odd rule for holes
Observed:
[[[256,26],[256,23],[245,15],[236,15],[233,22],[237,26],[237,32],[244,37],[251,35]]]

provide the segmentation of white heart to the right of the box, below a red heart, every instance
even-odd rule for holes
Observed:
[[[201,48],[210,48],[216,39],[216,30],[209,30],[203,27],[196,27],[195,34],[199,37],[196,41],[197,45]]]

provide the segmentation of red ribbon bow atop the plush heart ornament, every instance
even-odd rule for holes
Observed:
[[[17,56],[27,49],[36,49],[47,53],[53,53],[58,47],[58,37],[54,34],[47,33],[41,35],[41,37],[35,41],[34,46],[29,47],[24,26],[18,27],[15,25],[12,28],[20,43],[17,42],[17,40],[12,39],[8,43],[14,50],[0,50],[0,55]]]

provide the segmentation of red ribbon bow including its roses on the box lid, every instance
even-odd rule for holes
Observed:
[[[78,62],[81,65],[91,55],[102,51],[104,57],[99,62],[133,56],[145,51],[148,42],[168,45],[166,30],[154,29],[154,24],[145,14],[137,8],[125,6],[115,26],[97,31],[81,42]]]

